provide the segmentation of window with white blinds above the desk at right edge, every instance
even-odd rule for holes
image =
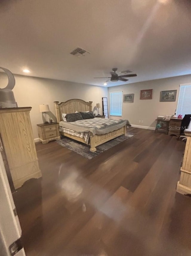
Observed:
[[[180,93],[178,97],[178,106],[176,110],[176,115],[191,114],[191,84],[190,85],[180,85]]]

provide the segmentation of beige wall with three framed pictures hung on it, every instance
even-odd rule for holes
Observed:
[[[166,79],[158,79],[108,88],[108,105],[110,104],[110,92],[123,91],[123,94],[134,93],[134,103],[123,103],[122,118],[128,119],[131,124],[146,127],[155,127],[155,118],[158,115],[172,115],[177,107],[179,85],[191,83],[191,75],[176,76]],[[140,100],[140,90],[153,89],[152,100]],[[160,92],[177,90],[175,102],[160,102]],[[118,119],[118,117],[112,117]],[[139,120],[143,120],[140,124]]]

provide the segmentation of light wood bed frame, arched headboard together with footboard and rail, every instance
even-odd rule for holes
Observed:
[[[84,100],[72,99],[72,100],[67,100],[66,102],[61,102],[61,103],[59,103],[58,101],[55,101],[54,103],[55,103],[56,118],[58,123],[62,121],[62,113],[70,114],[76,111],[78,112],[92,111],[92,101],[85,102]],[[65,132],[60,132],[60,134],[86,144],[84,138],[79,138],[79,137],[67,134]],[[98,145],[101,145],[123,134],[126,134],[126,125],[120,129],[117,129],[113,132],[109,132],[107,134],[93,135],[92,133],[90,133],[90,143],[89,143],[90,151],[95,152],[96,147]]]

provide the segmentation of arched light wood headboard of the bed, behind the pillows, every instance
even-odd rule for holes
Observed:
[[[62,121],[62,113],[70,114],[76,111],[92,111],[92,101],[86,102],[84,100],[72,99],[61,103],[59,103],[59,101],[54,101],[54,104],[58,123]]]

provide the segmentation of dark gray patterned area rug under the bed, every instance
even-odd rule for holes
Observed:
[[[88,159],[92,159],[93,157],[98,156],[99,154],[116,146],[117,144],[121,143],[122,141],[125,141],[125,140],[133,137],[134,135],[135,135],[135,133],[133,133],[133,132],[127,132],[127,134],[125,136],[121,135],[113,140],[107,141],[104,144],[97,146],[96,152],[91,152],[89,145],[83,144],[81,142],[77,142],[77,141],[67,138],[67,137],[65,137],[59,141],[56,141],[56,143],[60,144],[63,147],[66,147],[69,150],[76,152],[77,154],[79,154],[81,156],[84,156]]]

